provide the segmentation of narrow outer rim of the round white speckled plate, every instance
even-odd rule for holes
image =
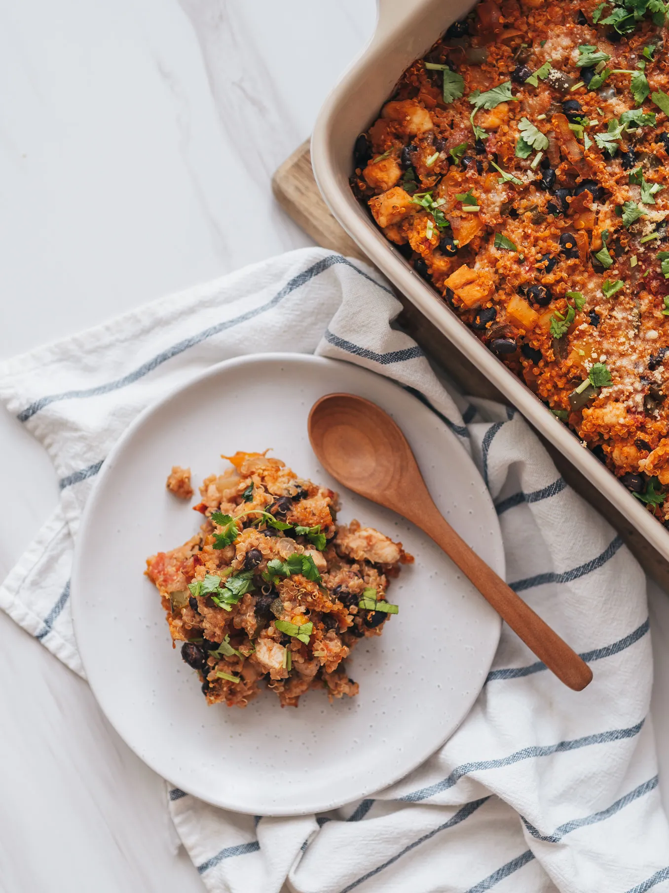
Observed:
[[[125,735],[119,730],[116,722],[114,722],[111,715],[108,713],[108,711],[106,709],[105,698],[104,698],[103,693],[100,692],[100,690],[98,689],[97,683],[96,682],[94,683],[94,681],[91,679],[90,674],[87,672],[87,661],[83,655],[82,648],[80,645],[79,636],[78,636],[78,616],[80,616],[80,615],[78,613],[77,605],[79,604],[78,580],[79,580],[79,577],[83,575],[82,564],[84,562],[84,556],[87,555],[86,550],[82,547],[81,544],[84,542],[84,540],[86,538],[86,531],[87,531],[87,528],[89,525],[89,518],[95,513],[95,511],[96,511],[95,501],[98,498],[98,494],[102,491],[103,484],[104,484],[105,480],[107,480],[109,475],[113,472],[113,470],[116,466],[117,458],[120,455],[120,453],[122,453],[128,440],[130,440],[133,437],[136,430],[140,429],[145,424],[146,420],[150,419],[154,413],[160,412],[160,410],[163,408],[163,406],[169,404],[169,402],[172,399],[174,399],[178,394],[182,394],[184,391],[188,390],[189,388],[196,388],[199,384],[202,383],[202,381],[208,380],[210,378],[215,378],[216,376],[221,374],[221,372],[225,372],[229,369],[235,369],[236,367],[239,367],[239,366],[244,366],[244,365],[258,363],[258,362],[260,362],[260,363],[299,362],[299,363],[307,363],[307,364],[317,363],[318,365],[323,365],[323,366],[327,366],[327,365],[336,366],[339,364],[345,364],[345,365],[355,369],[356,371],[370,373],[371,375],[375,376],[376,378],[383,380],[385,383],[392,385],[395,388],[400,388],[403,393],[405,393],[407,396],[409,396],[412,400],[415,400],[417,405],[420,405],[423,409],[425,409],[425,411],[434,414],[435,420],[438,421],[438,423],[442,426],[442,430],[446,432],[447,437],[450,438],[451,442],[454,445],[457,445],[458,450],[462,451],[462,454],[464,454],[466,460],[468,460],[468,462],[472,464],[472,467],[475,470],[476,474],[479,477],[481,477],[481,472],[479,472],[479,470],[476,468],[474,459],[472,458],[471,455],[467,454],[467,450],[462,446],[462,444],[460,444],[458,442],[458,438],[456,437],[456,435],[453,433],[453,431],[450,430],[448,425],[446,425],[445,422],[442,421],[439,414],[434,413],[434,410],[432,410],[431,407],[425,405],[422,401],[418,400],[418,398],[416,396],[414,396],[413,394],[411,394],[410,391],[406,391],[404,388],[402,388],[401,384],[398,381],[395,381],[395,380],[389,378],[388,376],[384,376],[384,375],[380,374],[379,372],[377,372],[376,370],[368,369],[365,366],[360,366],[358,363],[351,363],[344,359],[339,359],[339,358],[335,358],[335,357],[327,357],[327,356],[319,356],[316,354],[301,354],[301,353],[289,352],[289,351],[272,351],[272,352],[268,352],[268,353],[255,353],[255,354],[246,354],[246,355],[242,355],[242,356],[235,356],[235,357],[231,357],[227,360],[223,360],[220,363],[214,363],[211,366],[209,366],[208,368],[194,373],[194,375],[192,375],[187,380],[180,383],[177,387],[170,388],[169,392],[167,394],[165,394],[164,396],[161,396],[158,400],[155,400],[152,403],[150,403],[149,405],[145,406],[145,408],[140,413],[138,413],[136,415],[136,418],[130,422],[128,427],[120,435],[120,438],[118,438],[118,440],[116,440],[116,442],[113,444],[106,459],[103,462],[100,472],[96,475],[95,482],[93,484],[93,488],[91,489],[91,492],[87,497],[86,505],[84,506],[84,510],[82,511],[80,519],[79,519],[78,535],[77,535],[77,538],[76,538],[76,541],[74,544],[74,554],[73,554],[73,558],[72,558],[72,570],[71,570],[71,574],[70,574],[70,609],[71,609],[71,614],[72,614],[72,626],[73,626],[73,630],[74,630],[74,638],[77,643],[79,657],[81,659],[81,663],[84,668],[84,672],[86,673],[86,680],[87,680],[88,686],[91,689],[91,691],[93,692],[95,701],[96,701],[97,705],[99,706],[100,710],[102,711],[105,719],[107,720],[107,722],[110,723],[111,728],[116,732],[117,735],[119,735],[120,739],[124,742],[124,744],[127,747],[129,747],[129,749],[133,752],[133,754],[135,754],[153,772],[155,772],[157,775],[159,775],[169,785],[171,785],[173,787],[177,787],[179,790],[184,791],[184,793],[189,794],[192,797],[197,797],[198,799],[202,800],[204,803],[207,803],[207,804],[210,804],[213,806],[217,806],[221,809],[227,809],[227,810],[230,810],[235,813],[241,813],[241,814],[246,814],[246,815],[257,814],[257,809],[252,808],[252,805],[244,806],[244,805],[240,805],[238,803],[231,803],[230,801],[226,802],[224,799],[221,799],[220,797],[216,797],[206,790],[201,791],[201,790],[189,789],[189,785],[187,783],[184,784],[181,781],[171,780],[171,779],[167,778],[164,775],[164,773],[161,771],[160,766],[157,765],[158,761],[153,759],[152,755],[145,755],[143,753],[140,753],[139,750],[137,749],[137,747],[133,743],[131,743],[125,737]],[[483,481],[483,478],[481,480]],[[493,522],[493,536],[496,540],[495,545],[499,547],[499,551],[500,551],[500,568],[498,569],[498,573],[500,573],[500,576],[502,578],[504,578],[504,575],[506,572],[506,555],[504,553],[504,544],[503,544],[503,539],[502,539],[502,535],[501,535],[500,522],[497,517],[497,513],[494,511],[494,504],[492,502],[492,497],[490,495],[490,492],[489,492],[488,488],[485,487],[484,483],[483,483],[483,498],[487,498],[487,501],[489,501],[489,503],[490,503],[491,521]],[[425,534],[425,536],[426,536],[426,534]],[[82,605],[83,605],[83,602],[82,602]],[[486,675],[487,675],[487,672],[490,671],[492,662],[493,662],[494,657],[497,653],[497,649],[498,649],[499,643],[500,643],[502,622],[501,622],[501,618],[499,615],[497,617],[496,626],[497,626],[497,635],[494,637],[494,647],[491,647],[490,660],[487,662],[487,666],[485,667]],[[483,679],[484,679],[484,677],[483,677]],[[328,810],[337,809],[340,806],[346,805],[347,803],[355,802],[355,800],[357,800],[357,799],[360,799],[363,797],[368,797],[370,794],[374,794],[381,790],[391,787],[393,784],[396,784],[398,781],[400,781],[401,779],[403,779],[407,775],[409,775],[410,772],[414,772],[418,768],[418,766],[425,763],[425,760],[429,759],[429,757],[431,755],[433,755],[441,747],[443,747],[443,745],[446,743],[446,741],[448,741],[455,734],[455,732],[458,730],[458,728],[460,727],[462,722],[465,721],[468,714],[471,712],[472,707],[475,705],[476,699],[479,697],[479,695],[483,689],[483,685],[484,685],[484,681],[483,681],[481,687],[474,687],[474,689],[472,689],[471,696],[469,698],[467,698],[467,700],[465,701],[466,707],[463,710],[462,715],[458,719],[458,722],[450,729],[447,736],[444,739],[442,739],[442,741],[436,747],[431,747],[431,749],[427,753],[424,753],[423,750],[420,750],[420,753],[419,753],[417,759],[412,761],[412,764],[409,766],[409,768],[402,767],[400,772],[398,772],[397,774],[393,773],[392,778],[390,780],[386,781],[382,787],[379,787],[378,784],[375,783],[370,788],[361,789],[359,794],[356,795],[356,797],[350,797],[347,795],[343,799],[338,799],[338,798],[331,799],[331,800],[326,801],[325,803],[315,805],[314,807],[310,808],[309,810],[305,810],[303,808],[303,806],[291,807],[289,805],[281,805],[281,806],[272,807],[271,811],[268,811],[267,809],[263,809],[263,815],[272,816],[272,817],[280,817],[280,816],[287,817],[287,816],[291,816],[291,815],[304,815],[304,814],[310,814],[310,813],[327,812]]]

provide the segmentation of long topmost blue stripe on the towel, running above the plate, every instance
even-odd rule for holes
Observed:
[[[280,304],[281,301],[283,301],[285,297],[290,295],[296,288],[301,288],[301,286],[305,285],[315,276],[318,276],[320,273],[328,270],[330,267],[335,266],[335,264],[337,263],[342,263],[343,265],[350,267],[351,270],[356,271],[359,276],[362,276],[370,282],[373,282],[377,288],[382,288],[384,291],[392,294],[392,292],[390,292],[388,288],[385,288],[379,282],[376,282],[376,280],[372,279],[371,276],[368,276],[366,272],[359,270],[358,267],[356,267],[353,263],[351,263],[351,261],[348,261],[342,255],[328,255],[327,257],[324,257],[323,260],[318,261],[318,263],[314,263],[312,266],[309,267],[308,270],[303,270],[301,271],[301,273],[298,273],[297,276],[293,276],[293,279],[286,282],[285,286],[281,288],[277,292],[277,294],[268,301],[267,304],[264,304],[260,307],[255,307],[253,310],[249,310],[246,313],[242,313],[240,316],[235,317],[235,319],[233,320],[219,322],[215,326],[211,326],[209,329],[204,329],[201,332],[192,335],[190,338],[184,338],[183,341],[178,341],[177,344],[174,344],[168,347],[166,350],[161,351],[160,354],[154,356],[151,360],[147,360],[146,363],[142,363],[141,366],[138,366],[135,370],[128,372],[128,375],[124,375],[120,379],[108,381],[106,384],[98,385],[95,388],[82,388],[78,390],[62,391],[60,394],[49,394],[47,396],[40,397],[34,403],[26,407],[26,409],[22,410],[22,412],[18,414],[17,418],[19,419],[19,421],[28,421],[30,418],[32,418],[33,415],[35,415],[35,413],[38,413],[41,409],[44,409],[45,406],[48,406],[49,404],[57,403],[61,400],[72,400],[82,397],[99,396],[101,394],[108,394],[110,391],[119,390],[119,388],[125,388],[127,385],[132,384],[134,381],[143,378],[145,375],[148,375],[149,372],[157,369],[158,366],[160,366],[162,363],[166,363],[173,357],[178,356],[179,354],[183,354],[184,351],[188,350],[189,347],[201,344],[202,341],[205,341],[207,338],[211,338],[213,335],[218,335],[219,332],[233,329],[235,328],[235,326],[240,325],[242,322],[247,322],[254,319],[256,316],[260,316],[260,314],[262,313],[266,313],[268,310],[271,310],[273,307],[277,306],[277,304]]]

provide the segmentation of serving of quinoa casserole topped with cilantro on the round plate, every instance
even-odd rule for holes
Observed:
[[[413,557],[359,522],[337,526],[337,494],[279,459],[224,458],[233,468],[204,480],[194,506],[200,532],[146,561],[173,645],[184,643],[209,704],[244,707],[263,679],[282,706],[309,689],[357,695],[343,661],[398,613],[386,589]],[[188,488],[190,470],[175,466],[168,489]]]

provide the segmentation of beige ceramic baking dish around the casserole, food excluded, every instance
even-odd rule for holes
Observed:
[[[327,97],[318,115],[311,138],[311,163],[318,188],[344,230],[379,270],[599,488],[665,561],[669,560],[669,530],[442,303],[376,229],[349,187],[352,147],[359,133],[376,120],[402,71],[434,44],[451,21],[461,18],[473,5],[471,0],[379,0],[374,37]]]

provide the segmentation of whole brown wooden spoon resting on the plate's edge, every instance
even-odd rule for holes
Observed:
[[[311,408],[309,438],[335,480],[425,530],[481,595],[565,685],[581,691],[592,671],[444,520],[401,430],[376,404],[328,394]]]

